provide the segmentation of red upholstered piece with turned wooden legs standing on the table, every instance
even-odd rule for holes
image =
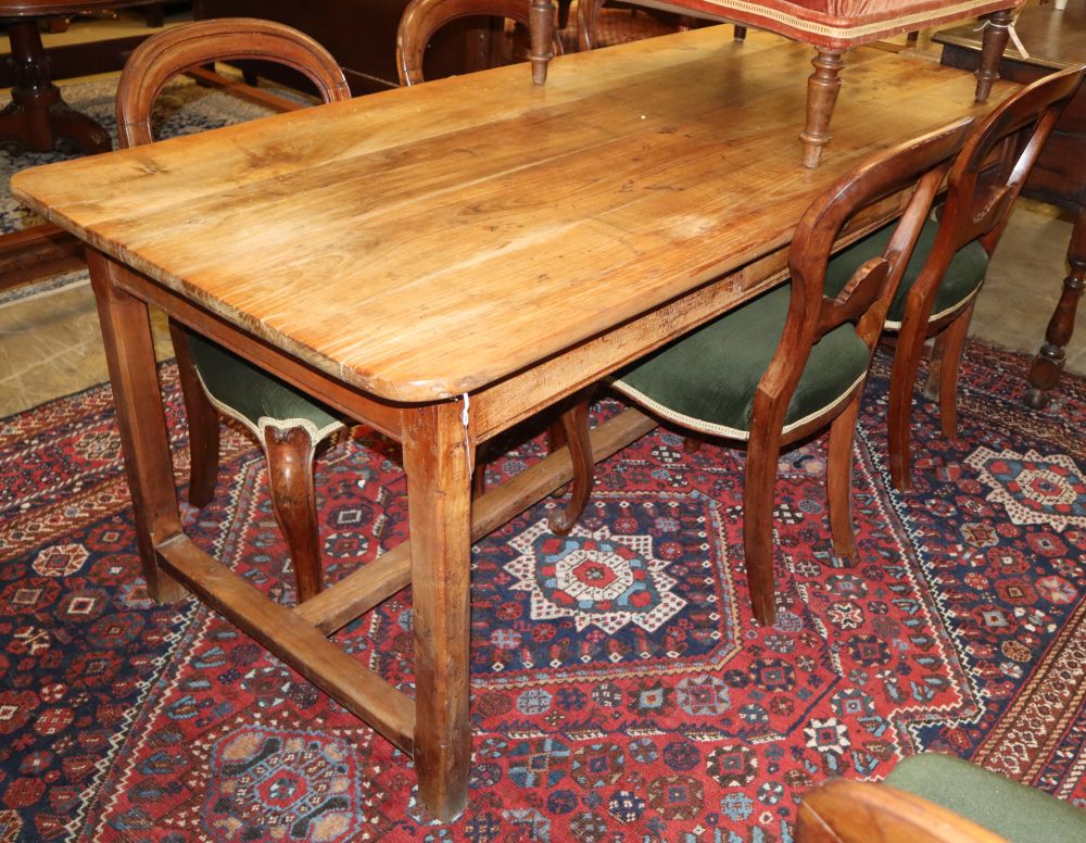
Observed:
[[[596,20],[606,0],[579,0],[582,48],[594,46]],[[627,0],[628,2],[630,0]],[[841,88],[843,54],[850,48],[905,32],[986,16],[976,100],[987,99],[1008,40],[1012,12],[1025,0],[632,0],[637,5],[689,14],[783,35],[815,48],[807,84],[807,122],[799,138],[804,163],[818,166],[830,140],[830,117]],[[533,4],[540,0],[531,0]]]

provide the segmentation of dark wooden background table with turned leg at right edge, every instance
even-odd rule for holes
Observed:
[[[1058,11],[1051,3],[1027,7],[1015,26],[1030,53],[1023,56],[1007,48],[999,75],[1018,83],[1086,62],[1086,0],[1070,0]],[[943,63],[973,70],[980,59],[981,40],[973,26],[936,33],[932,40],[943,45]],[[1086,87],[1078,91],[1040,153],[1023,196],[1073,211],[1076,215],[1068,261],[1071,273],[1048,324],[1045,343],[1030,370],[1026,402],[1033,407],[1048,403],[1048,392],[1063,369],[1064,349],[1075,327],[1075,312],[1086,287]]]

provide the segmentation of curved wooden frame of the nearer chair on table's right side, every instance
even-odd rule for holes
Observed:
[[[772,624],[776,615],[772,521],[778,458],[784,445],[824,429],[826,425],[830,426],[826,498],[834,551],[846,557],[855,553],[849,500],[851,452],[866,377],[859,377],[820,411],[787,427],[786,414],[812,348],[830,331],[846,323],[853,324],[857,337],[867,347],[870,362],[932,202],[971,124],[971,118],[964,118],[869,160],[816,199],[796,227],[788,252],[792,276],[788,312],[776,350],[755,388],[745,431],[748,446],[743,541],[750,602],[760,624]],[[839,293],[828,295],[826,265],[849,222],[863,209],[909,190],[911,196],[907,198],[904,214],[883,254],[858,267]],[[630,391],[621,379],[615,387],[645,403],[646,397]],[[660,411],[660,407],[646,406]],[[706,429],[681,420],[680,424],[709,432],[708,424]],[[735,432],[744,438],[743,431]]]

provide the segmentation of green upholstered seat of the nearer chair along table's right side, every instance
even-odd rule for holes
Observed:
[[[691,429],[749,438],[755,388],[784,332],[791,287],[779,287],[618,373],[620,392]],[[829,408],[864,377],[868,347],[849,324],[811,349],[785,431]]]

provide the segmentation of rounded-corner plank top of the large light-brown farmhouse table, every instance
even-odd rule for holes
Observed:
[[[28,169],[12,189],[318,369],[429,402],[784,248],[843,172],[1013,88],[977,106],[971,74],[859,50],[810,171],[809,72],[806,46],[697,29],[557,58],[541,87],[503,67]]]

